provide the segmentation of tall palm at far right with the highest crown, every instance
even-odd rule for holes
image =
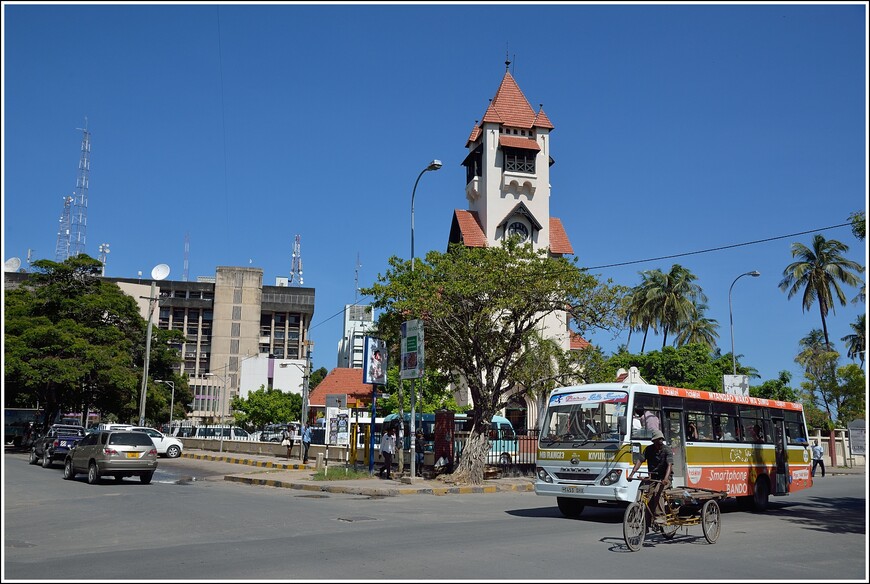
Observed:
[[[826,319],[829,310],[836,314],[834,296],[840,302],[840,306],[846,305],[846,295],[840,288],[840,282],[849,286],[861,284],[858,274],[863,271],[863,268],[860,264],[843,257],[842,254],[848,250],[849,246],[846,244],[836,239],[826,240],[818,234],[813,237],[812,248],[802,243],[793,243],[791,255],[799,259],[786,266],[782,272],[782,281],[779,283],[780,290],[788,291],[789,300],[803,289],[804,312],[812,308],[813,303],[818,300],[822,332],[828,346],[830,346],[830,339]]]

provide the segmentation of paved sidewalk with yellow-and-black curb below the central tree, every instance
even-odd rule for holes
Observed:
[[[303,465],[299,460],[287,460],[276,456],[218,453],[193,449],[184,451],[181,456],[182,458],[214,460],[240,465],[239,472],[224,476],[225,481],[303,491],[395,497],[399,495],[468,495],[506,491],[534,492],[535,490],[534,480],[531,477],[489,479],[479,486],[453,486],[439,480],[424,478],[415,478],[411,481],[410,477],[407,476],[392,480],[379,479],[377,476],[341,480],[340,477],[344,469],[333,463],[326,467],[327,476],[333,472],[330,469],[334,468],[335,478],[315,481],[311,479],[316,471],[315,465],[311,461],[307,465]],[[249,469],[245,469],[245,467],[249,467]]]

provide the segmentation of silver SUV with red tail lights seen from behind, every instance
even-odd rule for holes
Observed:
[[[116,481],[138,476],[143,484],[151,482],[157,470],[157,448],[144,432],[129,430],[100,431],[88,434],[66,455],[63,478],[72,480],[86,472],[88,483],[96,484],[104,476]]]

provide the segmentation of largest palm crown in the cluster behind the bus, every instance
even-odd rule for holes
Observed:
[[[668,344],[668,332],[680,330],[695,314],[696,302],[706,302],[707,296],[695,284],[692,272],[679,264],[663,274],[656,270],[646,295],[647,306],[662,328],[662,348]]]

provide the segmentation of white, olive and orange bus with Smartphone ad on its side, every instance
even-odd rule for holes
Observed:
[[[586,505],[634,501],[639,483],[625,477],[633,455],[651,443],[651,431],[632,423],[637,408],[659,420],[674,452],[674,486],[726,491],[759,511],[771,494],[812,486],[799,403],[602,383],[550,393],[538,438],[535,493],[555,497],[567,517],[579,516]]]

